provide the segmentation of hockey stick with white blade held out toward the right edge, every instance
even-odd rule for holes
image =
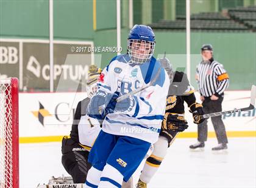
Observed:
[[[250,102],[250,106],[249,107],[241,108],[241,109],[233,109],[233,110],[228,110],[228,111],[223,111],[223,112],[208,113],[208,114],[205,114],[205,115],[200,115],[199,118],[201,118],[201,119],[212,118],[212,117],[221,116],[221,115],[224,115],[224,114],[252,110],[252,109],[254,109],[254,106],[255,106],[255,96],[256,96],[256,86],[252,85],[252,89],[251,89],[251,102]]]

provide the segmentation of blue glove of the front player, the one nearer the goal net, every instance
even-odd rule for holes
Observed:
[[[91,101],[87,107],[87,115],[96,119],[104,119],[104,115],[99,110],[99,107],[105,104],[104,92],[98,92],[96,95],[91,98]]]

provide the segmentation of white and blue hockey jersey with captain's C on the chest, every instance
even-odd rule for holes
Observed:
[[[126,111],[109,113],[102,123],[102,130],[113,135],[126,135],[155,143],[165,114],[169,78],[154,57],[141,65],[129,61],[127,54],[113,58],[99,78],[98,92],[118,91],[124,95],[151,82],[159,69],[161,72],[152,86],[130,98],[130,107]]]

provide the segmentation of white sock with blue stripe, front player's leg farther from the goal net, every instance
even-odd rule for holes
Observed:
[[[120,187],[123,183],[124,176],[113,166],[106,164],[102,174],[101,174],[101,181],[98,187]]]

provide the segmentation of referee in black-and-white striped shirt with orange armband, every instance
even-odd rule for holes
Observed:
[[[196,80],[201,94],[201,101],[205,113],[221,112],[221,103],[224,91],[229,86],[229,75],[223,65],[213,59],[213,47],[211,44],[204,44],[201,48],[202,62],[196,69]],[[218,139],[218,146],[212,150],[227,149],[227,135],[221,116],[212,118],[213,127]],[[190,149],[204,148],[207,140],[207,119],[198,125],[196,144]]]

